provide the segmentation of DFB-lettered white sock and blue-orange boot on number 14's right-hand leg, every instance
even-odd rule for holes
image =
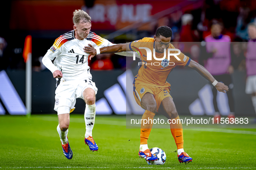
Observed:
[[[85,127],[86,127],[84,142],[86,145],[89,146],[91,151],[98,150],[98,145],[96,144],[96,142],[92,137],[92,129],[94,127],[95,114],[96,114],[96,105],[86,104],[85,112],[84,112],[84,120],[85,120]]]

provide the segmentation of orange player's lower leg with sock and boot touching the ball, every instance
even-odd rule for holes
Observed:
[[[151,154],[151,152],[148,148],[148,139],[149,139],[149,134],[150,134],[152,126],[153,126],[152,121],[153,121],[154,116],[155,116],[155,113],[152,113],[149,110],[146,110],[142,116],[142,120],[144,120],[144,119],[149,120],[149,122],[147,124],[143,124],[143,121],[142,121],[141,129],[140,129],[139,156],[141,158],[146,159],[146,161],[157,160],[156,155]]]

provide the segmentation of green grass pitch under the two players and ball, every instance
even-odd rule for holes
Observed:
[[[71,114],[68,139],[73,159],[62,153],[57,115],[0,116],[1,169],[256,169],[256,129],[207,132],[184,129],[184,148],[193,158],[180,164],[170,129],[152,129],[148,145],[162,148],[164,165],[138,156],[139,129],[126,129],[125,116],[96,116],[97,152],[84,144],[84,116]],[[243,134],[245,131],[251,134]]]

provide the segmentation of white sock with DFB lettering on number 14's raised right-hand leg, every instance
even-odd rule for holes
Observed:
[[[85,111],[84,111],[84,120],[85,120],[85,128],[86,128],[85,138],[92,136],[92,129],[95,121],[95,114],[96,114],[96,105],[86,104]]]

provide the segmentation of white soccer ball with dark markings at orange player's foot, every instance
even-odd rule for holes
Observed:
[[[166,154],[165,152],[160,148],[151,148],[150,149],[151,154],[155,154],[157,157],[156,161],[147,161],[149,165],[163,165],[166,161]]]

